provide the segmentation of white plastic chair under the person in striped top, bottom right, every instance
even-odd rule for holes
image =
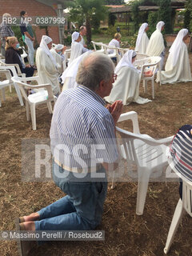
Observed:
[[[168,160],[168,162],[170,161]],[[187,181],[186,178],[182,177],[181,174],[179,177],[182,178],[182,199],[180,198],[178,200],[178,204],[174,210],[174,216],[172,218],[170,230],[166,238],[166,246],[164,248],[165,254],[168,254],[170,250],[170,246],[174,241],[174,235],[178,230],[179,224],[182,222],[182,217],[184,214],[190,214],[190,217],[192,217],[192,182]]]

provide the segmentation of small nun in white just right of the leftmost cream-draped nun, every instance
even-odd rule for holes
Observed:
[[[58,44],[50,49],[51,54],[54,56],[55,62],[58,64],[58,72],[62,74],[66,69],[66,56],[65,56],[66,46]]]

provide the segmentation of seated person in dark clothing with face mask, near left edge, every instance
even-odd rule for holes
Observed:
[[[30,65],[25,65],[22,62],[21,55],[18,51],[18,38],[10,37],[6,40],[6,64],[18,64],[22,73],[26,74],[26,78],[34,75],[34,68]]]

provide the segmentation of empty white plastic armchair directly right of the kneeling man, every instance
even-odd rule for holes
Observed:
[[[155,177],[162,175],[163,167],[168,164],[166,158],[166,144],[170,144],[173,136],[156,140],[147,134],[140,134],[138,114],[134,111],[121,114],[118,122],[128,119],[133,122],[133,133],[118,127],[116,127],[116,130],[122,138],[120,149],[122,158],[126,159],[128,169],[130,169],[132,165],[137,166],[138,171],[136,178],[138,178],[138,197],[136,214],[142,215],[150,176],[153,173],[155,173]],[[135,177],[135,173],[130,173],[130,176],[132,175]],[[112,188],[114,188],[114,178]]]

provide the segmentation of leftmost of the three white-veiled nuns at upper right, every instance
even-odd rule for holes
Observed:
[[[138,30],[138,38],[136,41],[135,51],[137,51],[140,54],[146,54],[146,48],[149,43],[149,38],[146,35],[146,31],[149,29],[149,26],[147,23],[142,23],[142,26],[140,26]]]

